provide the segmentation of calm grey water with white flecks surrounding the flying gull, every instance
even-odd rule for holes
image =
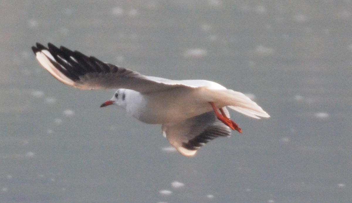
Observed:
[[[350,1],[1,1],[1,202],[351,202]],[[160,125],[99,108],[30,47],[51,42],[170,79],[207,79],[271,115],[195,157]]]

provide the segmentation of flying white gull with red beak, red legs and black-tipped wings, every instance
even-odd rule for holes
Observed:
[[[100,107],[117,105],[148,124],[162,124],[169,143],[184,156],[231,130],[242,132],[227,107],[252,118],[270,117],[241,92],[208,80],[170,80],[145,76],[104,63],[66,47],[32,47],[39,64],[62,83],[82,90],[118,89]]]

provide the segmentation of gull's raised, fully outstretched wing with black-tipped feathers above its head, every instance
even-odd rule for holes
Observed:
[[[147,93],[175,87],[196,87],[183,85],[175,80],[144,76],[50,43],[48,48],[37,43],[32,50],[39,63],[52,76],[64,84],[83,90],[123,88]]]

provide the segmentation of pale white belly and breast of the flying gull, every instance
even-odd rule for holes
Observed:
[[[208,103],[209,100],[200,93],[201,91],[195,91],[195,89],[183,88],[149,94],[138,93],[138,97],[131,98],[133,105],[126,106],[126,111],[144,123],[181,122],[187,118],[212,111],[212,107]]]

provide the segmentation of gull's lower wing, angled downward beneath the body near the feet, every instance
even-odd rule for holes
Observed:
[[[230,118],[226,107],[222,109]],[[231,134],[230,127],[216,118],[213,111],[183,120],[180,123],[163,124],[162,131],[169,143],[184,156],[194,156],[197,150],[210,140]]]

